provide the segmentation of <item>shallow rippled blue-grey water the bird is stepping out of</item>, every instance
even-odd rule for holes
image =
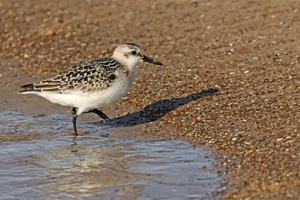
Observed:
[[[219,177],[189,143],[115,140],[71,117],[0,110],[0,199],[207,199]]]

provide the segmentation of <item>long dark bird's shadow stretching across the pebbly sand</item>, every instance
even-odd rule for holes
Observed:
[[[146,106],[143,110],[122,117],[99,121],[93,124],[99,127],[132,127],[144,123],[156,121],[164,117],[168,112],[179,108],[191,101],[212,95],[218,95],[218,89],[209,89],[188,95],[186,97],[165,99]]]

